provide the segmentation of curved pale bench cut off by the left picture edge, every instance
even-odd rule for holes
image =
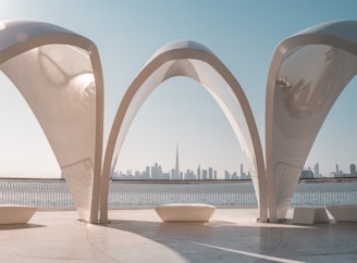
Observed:
[[[0,205],[0,225],[25,224],[35,214],[37,208],[17,204]]]

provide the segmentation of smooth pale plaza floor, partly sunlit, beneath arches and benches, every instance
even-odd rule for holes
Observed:
[[[90,225],[76,211],[37,212],[0,226],[0,262],[357,262],[357,224],[256,222],[257,210],[218,209],[209,223],[162,223],[153,209],[110,210]],[[292,218],[288,211],[287,218]]]

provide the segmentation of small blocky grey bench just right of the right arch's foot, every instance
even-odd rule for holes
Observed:
[[[293,224],[330,223],[324,208],[295,208]]]

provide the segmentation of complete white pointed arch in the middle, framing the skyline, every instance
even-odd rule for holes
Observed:
[[[247,156],[260,210],[267,221],[266,171],[260,138],[243,89],[225,65],[206,47],[186,40],[159,49],[126,90],[111,128],[103,162],[100,222],[108,220],[108,187],[128,128],[147,97],[161,83],[175,76],[200,83],[226,115]]]

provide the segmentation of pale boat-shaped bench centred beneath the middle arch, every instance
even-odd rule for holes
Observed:
[[[205,203],[170,203],[155,208],[163,222],[208,222],[216,211]]]

